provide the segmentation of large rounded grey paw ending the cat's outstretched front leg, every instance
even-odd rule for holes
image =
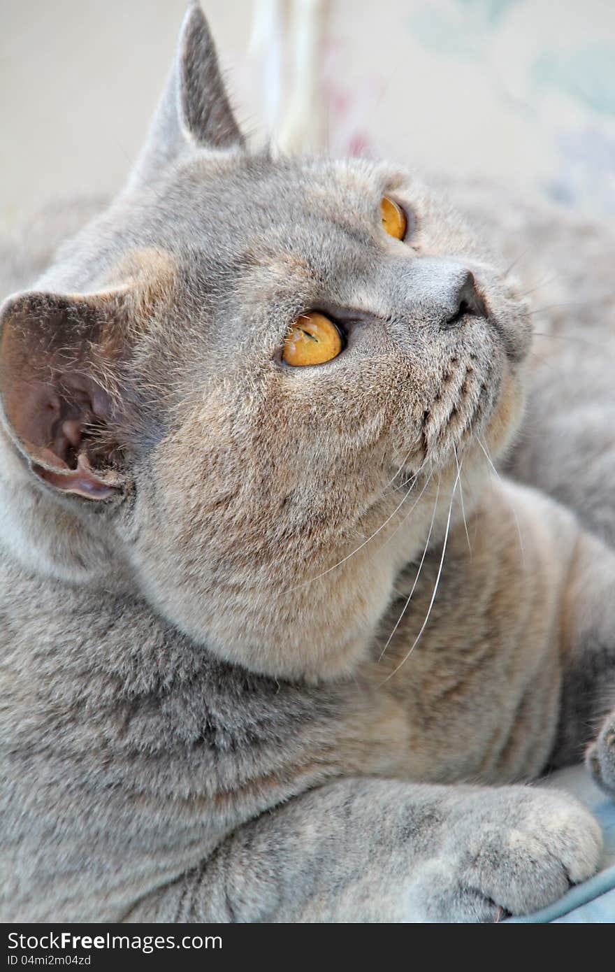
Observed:
[[[412,889],[423,921],[498,921],[544,908],[598,869],[602,835],[576,800],[502,787],[470,801]]]

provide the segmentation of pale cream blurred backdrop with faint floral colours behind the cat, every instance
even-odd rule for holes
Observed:
[[[290,147],[489,176],[615,213],[614,0],[203,8],[256,142],[273,133]],[[120,188],[185,9],[185,0],[1,0],[3,222],[50,198]]]

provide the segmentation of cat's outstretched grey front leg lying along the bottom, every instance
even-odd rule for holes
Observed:
[[[337,781],[245,825],[125,920],[495,921],[589,878],[600,847],[555,791]]]

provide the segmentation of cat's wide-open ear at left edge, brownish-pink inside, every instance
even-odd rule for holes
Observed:
[[[30,469],[64,494],[104,500],[123,484],[105,440],[124,292],[30,292],[0,308],[3,420]],[[105,377],[106,376],[106,377]],[[104,444],[103,444],[104,443]]]

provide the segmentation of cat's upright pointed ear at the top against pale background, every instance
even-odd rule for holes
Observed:
[[[243,148],[222,82],[216,47],[196,2],[188,6],[175,64],[129,186],[146,184],[195,146]]]

